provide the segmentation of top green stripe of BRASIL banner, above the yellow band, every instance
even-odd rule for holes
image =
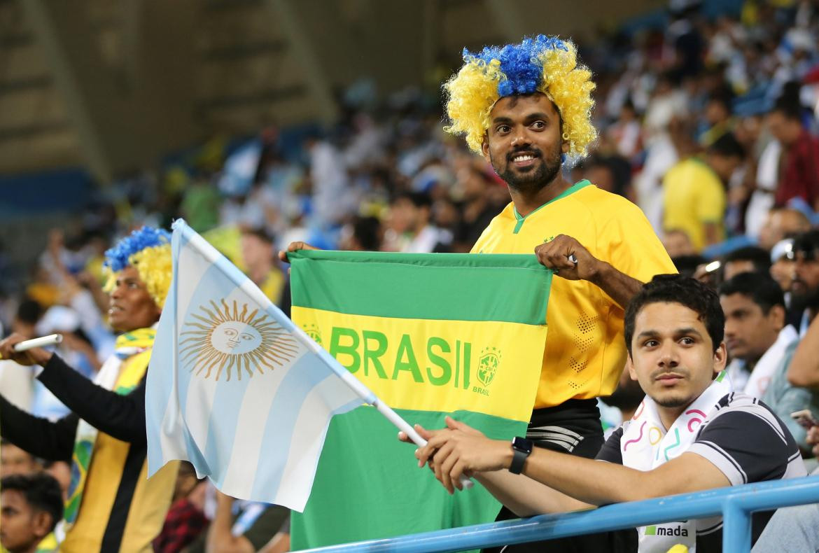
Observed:
[[[545,324],[548,301],[532,298],[550,288],[552,272],[534,255],[300,250],[287,256],[294,306],[403,319]],[[510,287],[514,294],[506,293]]]

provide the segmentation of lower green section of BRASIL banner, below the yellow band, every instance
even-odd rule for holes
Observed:
[[[446,413],[396,412],[409,424],[445,426]],[[468,411],[452,416],[495,439],[526,433],[522,422]],[[428,468],[419,469],[414,444],[381,439],[396,433],[369,406],[333,417],[310,500],[303,514],[292,513],[293,551],[495,520],[500,503],[484,487],[476,482],[450,496]]]

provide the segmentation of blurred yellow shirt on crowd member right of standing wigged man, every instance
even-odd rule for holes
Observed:
[[[697,251],[706,246],[705,224],[716,224],[717,240],[724,238],[725,205],[722,181],[694,157],[674,165],[663,179],[663,229],[682,230]]]

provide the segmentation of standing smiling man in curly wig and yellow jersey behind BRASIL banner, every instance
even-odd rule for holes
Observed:
[[[597,455],[603,432],[595,398],[614,391],[626,365],[624,309],[642,283],[676,272],[637,206],[587,180],[563,178],[567,157],[586,156],[597,136],[594,88],[574,44],[544,35],[464,51],[464,66],[444,84],[446,130],[464,135],[512,198],[473,252],[534,252],[557,275],[532,422],[515,456],[532,445]],[[529,547],[560,551],[565,544],[546,545]]]

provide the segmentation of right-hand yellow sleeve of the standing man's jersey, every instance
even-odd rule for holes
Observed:
[[[600,252],[608,254],[615,269],[647,283],[655,274],[676,273],[663,243],[657,238],[640,208],[616,197],[606,210],[608,218],[600,229]]]

